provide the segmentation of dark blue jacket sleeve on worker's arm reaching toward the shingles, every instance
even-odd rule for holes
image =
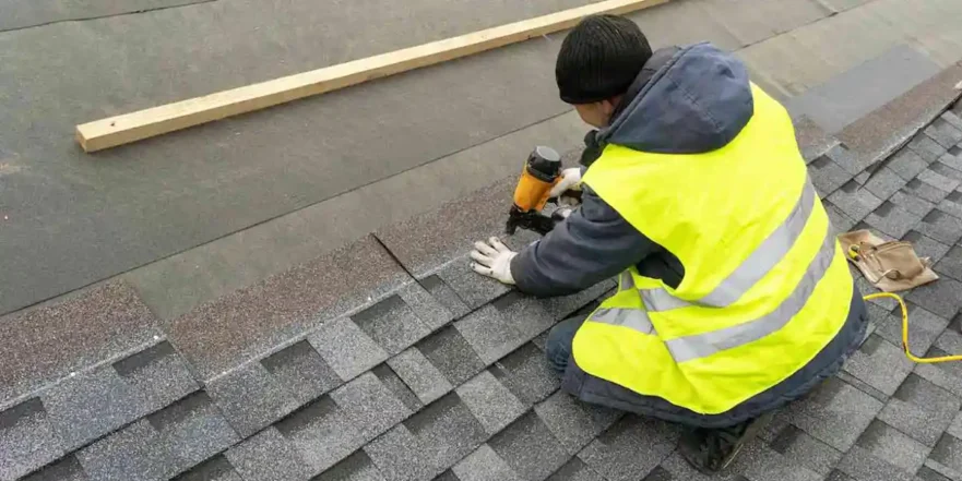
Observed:
[[[522,292],[574,293],[662,251],[587,185],[582,187],[581,206],[511,261],[511,275]]]

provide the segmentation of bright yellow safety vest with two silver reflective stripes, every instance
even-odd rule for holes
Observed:
[[[808,363],[845,323],[852,276],[785,109],[752,85],[728,145],[696,155],[608,145],[584,183],[685,266],[677,289],[620,276],[574,336],[586,373],[704,414]]]

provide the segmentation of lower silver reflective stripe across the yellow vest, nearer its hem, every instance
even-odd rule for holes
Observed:
[[[824,277],[826,272],[832,264],[836,242],[830,229],[826,232],[824,241],[818,254],[809,263],[801,281],[798,282],[792,294],[777,309],[759,318],[736,326],[666,340],[665,346],[668,348],[668,352],[672,353],[675,362],[705,358],[718,351],[744,346],[784,327],[805,306],[815,287]],[[626,276],[622,274],[620,290],[632,288],[633,281],[631,280],[630,273],[628,273],[627,278],[628,281],[626,284]],[[629,327],[641,334],[655,334],[654,325],[651,318],[649,318],[648,313],[639,309],[601,308],[589,320]]]

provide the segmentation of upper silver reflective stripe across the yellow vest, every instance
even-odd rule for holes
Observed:
[[[811,216],[815,197],[815,188],[806,179],[805,187],[801,189],[801,195],[798,197],[798,203],[795,204],[792,213],[788,214],[788,218],[744,263],[703,298],[687,301],[676,298],[663,288],[642,289],[641,298],[644,301],[644,306],[651,312],[664,312],[694,304],[710,308],[726,308],[735,303],[785,257],[792,245],[795,245],[795,241],[801,236],[801,231]],[[831,252],[829,253],[829,260],[831,260]]]

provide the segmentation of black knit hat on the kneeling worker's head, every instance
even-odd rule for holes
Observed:
[[[634,22],[616,15],[586,16],[561,44],[555,80],[561,100],[591,104],[628,91],[652,56]]]

